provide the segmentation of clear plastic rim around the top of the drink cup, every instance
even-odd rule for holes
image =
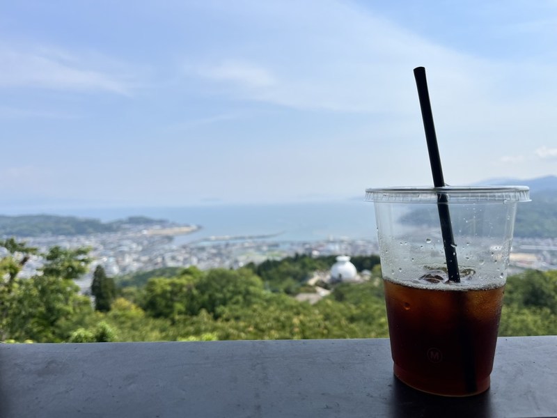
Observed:
[[[439,194],[447,203],[517,203],[530,201],[526,186],[479,187],[387,187],[366,189],[365,201],[375,203],[437,203]]]

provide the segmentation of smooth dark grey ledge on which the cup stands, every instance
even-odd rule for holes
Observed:
[[[471,398],[393,377],[389,340],[0,344],[0,417],[557,417],[557,336],[500,338]]]

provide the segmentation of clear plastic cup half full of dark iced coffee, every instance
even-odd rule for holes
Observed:
[[[524,186],[366,190],[402,382],[444,396],[489,388],[517,203],[529,200]],[[448,280],[439,204],[450,212],[460,282]]]

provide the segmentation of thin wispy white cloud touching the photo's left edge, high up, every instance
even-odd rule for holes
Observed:
[[[31,87],[70,91],[105,91],[130,95],[124,77],[87,68],[84,57],[60,49],[0,45],[0,88]]]

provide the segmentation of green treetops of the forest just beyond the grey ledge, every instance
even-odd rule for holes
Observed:
[[[354,257],[368,270],[361,283],[315,292],[308,278],[334,257],[297,255],[237,270],[197,268],[107,277],[95,269],[91,295],[74,279],[91,264],[88,249],[52,247],[45,254],[13,239],[0,242],[0,341],[195,341],[230,339],[377,338],[389,336],[377,256]],[[30,254],[43,266],[19,277]],[[508,277],[501,336],[557,334],[557,271],[526,270]]]

